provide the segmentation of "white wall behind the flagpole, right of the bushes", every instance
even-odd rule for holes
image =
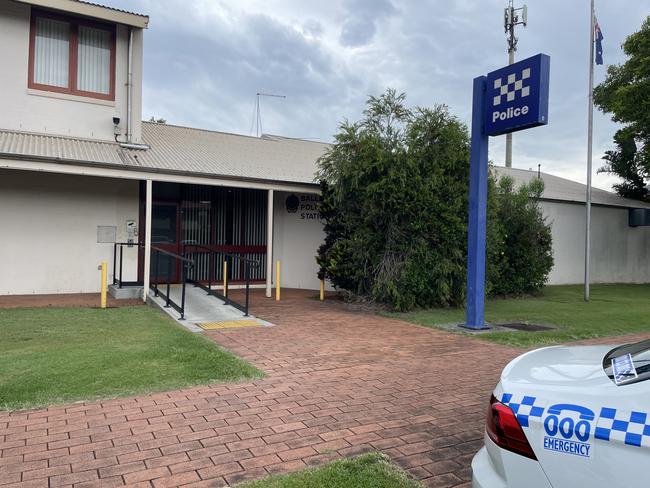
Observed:
[[[555,265],[549,284],[584,282],[585,206],[541,203],[552,224]],[[592,283],[650,282],[650,227],[629,227],[628,209],[591,208]]]

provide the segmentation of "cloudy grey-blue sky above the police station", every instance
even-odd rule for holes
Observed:
[[[506,0],[105,0],[146,13],[143,116],[329,142],[368,95],[406,92],[411,105],[447,104],[469,122],[472,78],[507,64]],[[518,2],[519,3],[519,2]],[[516,6],[519,6],[516,3]],[[517,59],[551,56],[549,125],[514,135],[513,166],[586,179],[589,0],[528,0]],[[605,64],[650,15],[650,0],[597,0]],[[605,69],[596,67],[596,83]],[[616,126],[595,113],[594,169]],[[504,159],[505,137],[490,158]],[[612,176],[596,175],[609,188]]]

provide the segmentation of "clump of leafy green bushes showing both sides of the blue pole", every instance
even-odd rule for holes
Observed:
[[[325,242],[319,277],[398,310],[464,303],[469,138],[445,106],[408,109],[370,97],[319,161]],[[488,290],[539,290],[553,264],[538,206],[543,186],[491,177]]]

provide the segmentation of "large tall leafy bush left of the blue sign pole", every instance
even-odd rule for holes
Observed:
[[[320,160],[321,277],[397,309],[464,299],[469,140],[444,106],[370,97]]]

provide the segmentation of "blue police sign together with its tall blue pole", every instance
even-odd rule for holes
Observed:
[[[485,324],[488,138],[548,123],[550,58],[538,54],[474,79],[465,327]]]

